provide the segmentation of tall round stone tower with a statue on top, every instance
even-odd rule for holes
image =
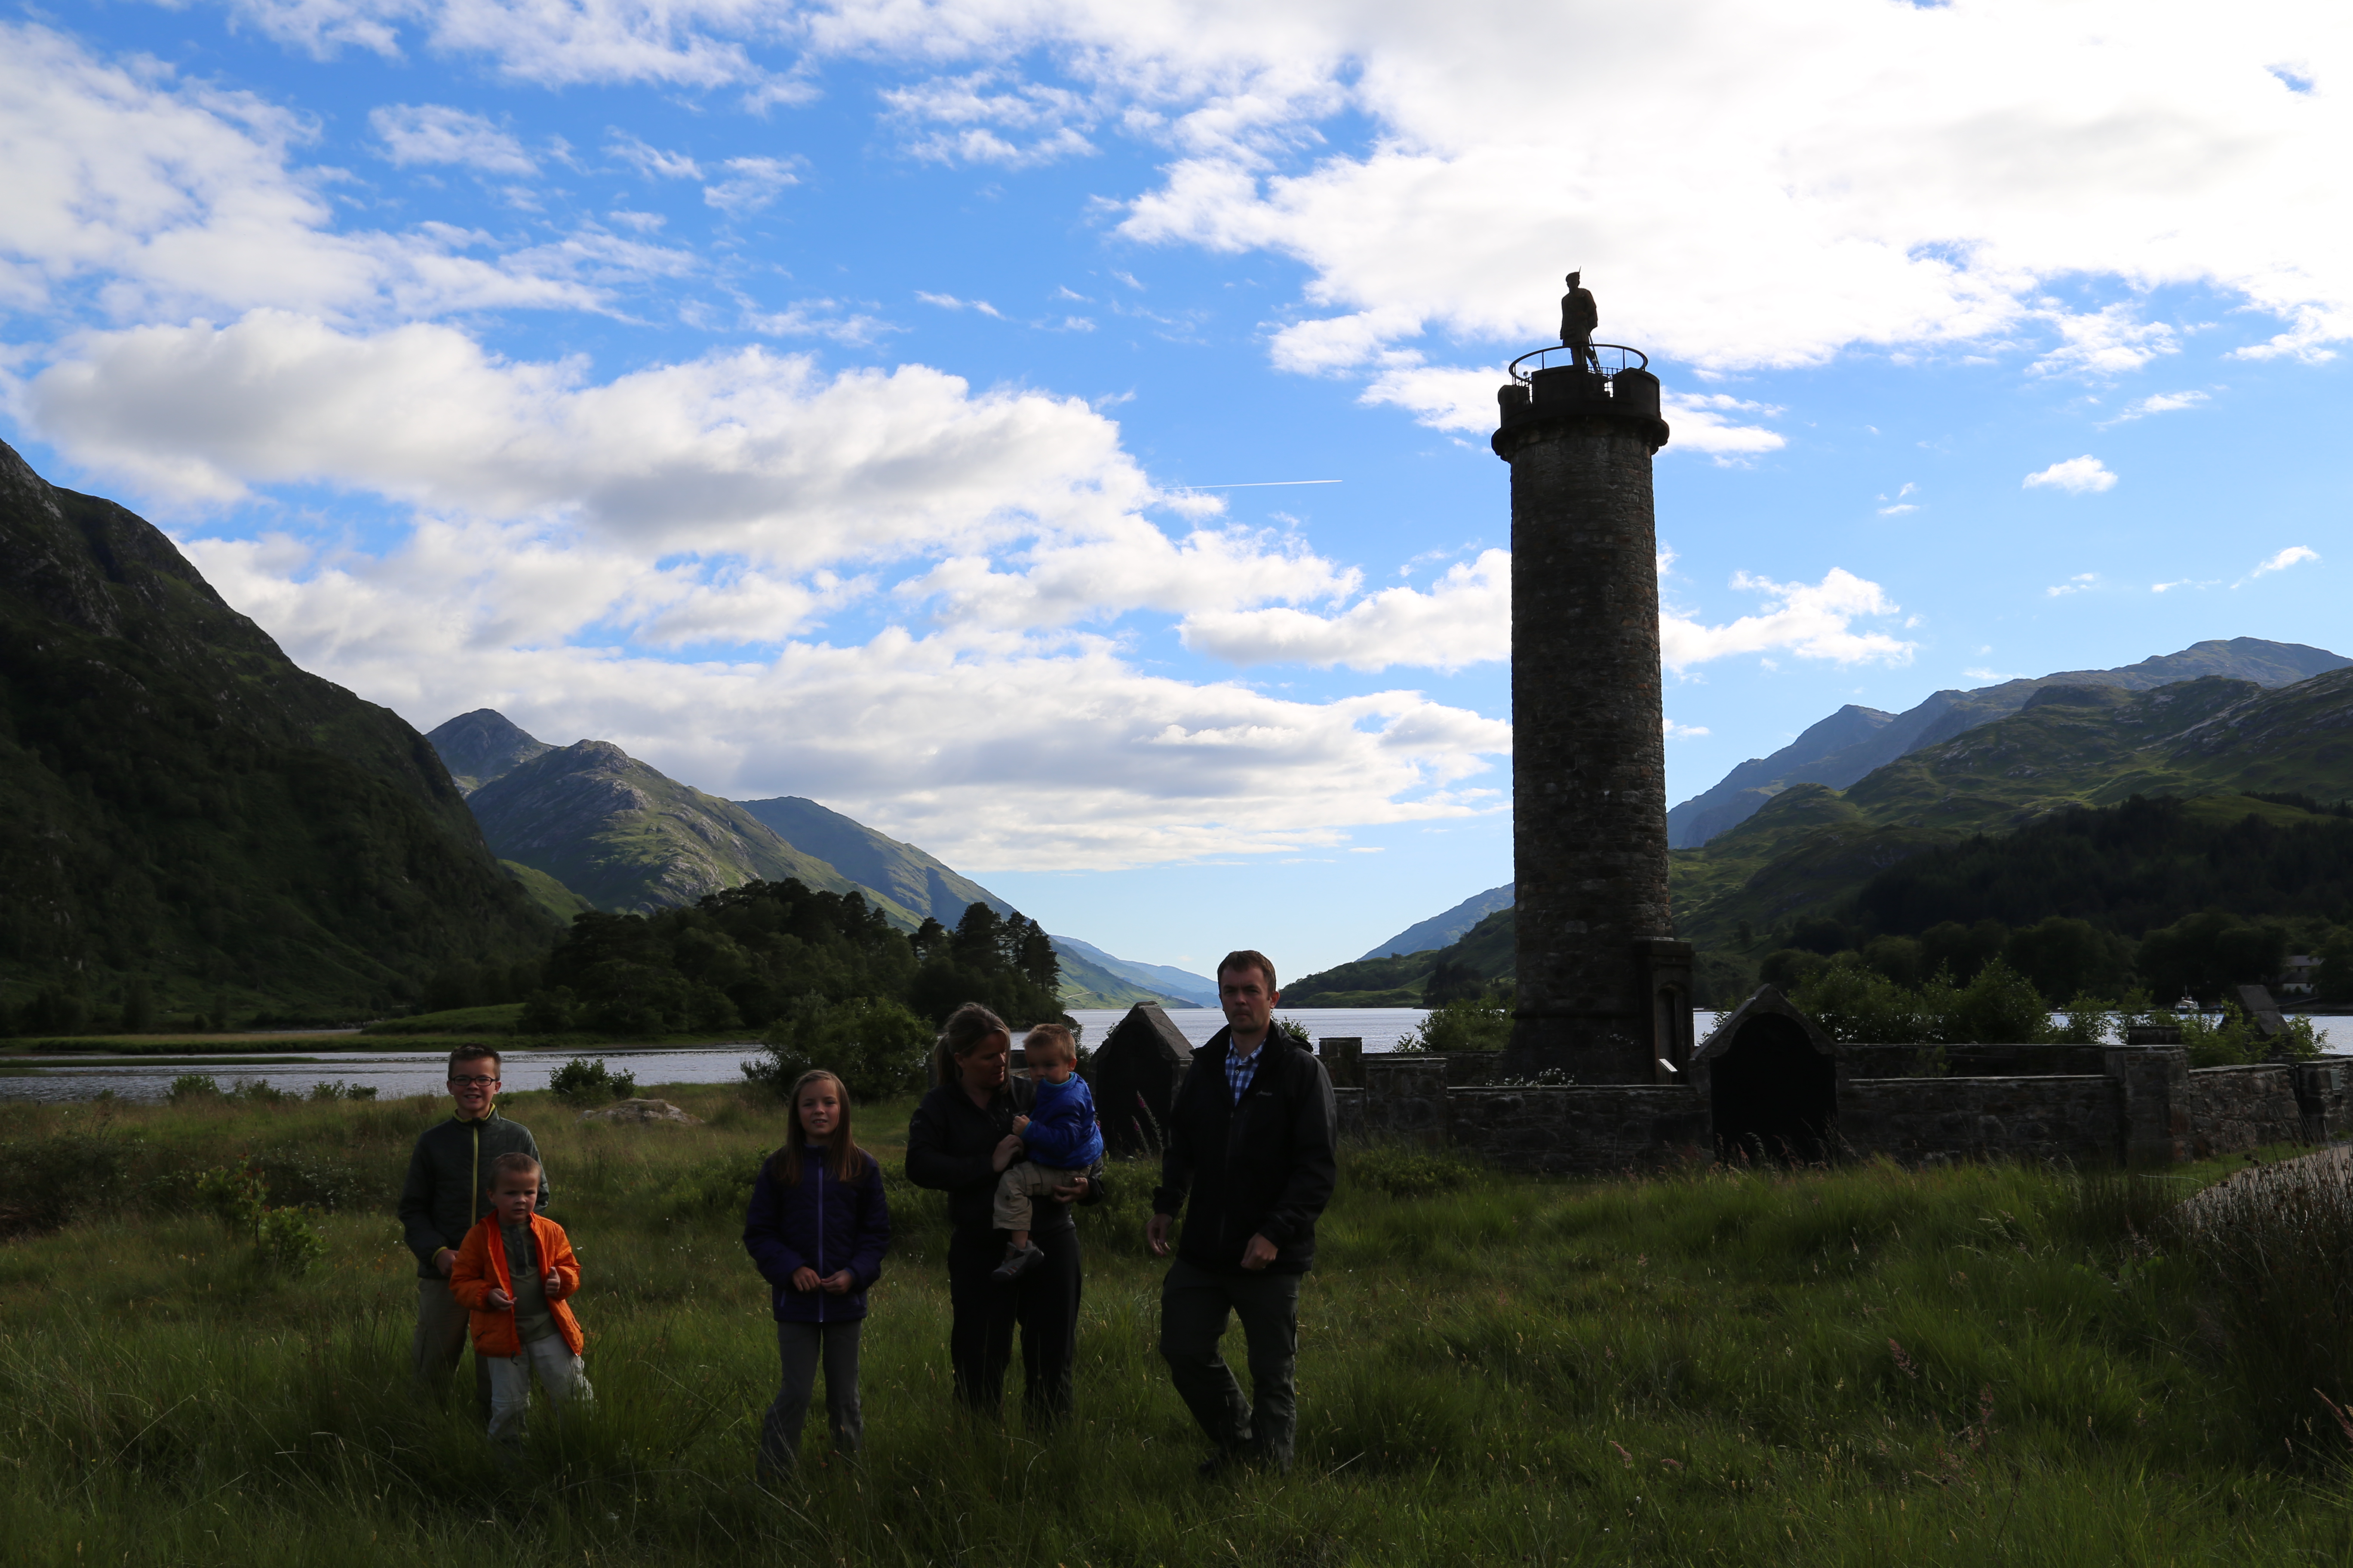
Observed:
[[[1584,331],[1520,355],[1499,390],[1511,463],[1513,875],[1520,1001],[1504,1070],[1678,1081],[1692,947],[1666,900],[1659,536],[1666,444],[1647,360]],[[1581,296],[1581,299],[1579,299]]]

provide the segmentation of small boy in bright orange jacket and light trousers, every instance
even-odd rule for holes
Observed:
[[[489,1368],[489,1434],[520,1436],[539,1387],[562,1410],[593,1399],[581,1375],[586,1335],[567,1300],[581,1288],[581,1265],[565,1227],[536,1211],[539,1161],[499,1154],[489,1161],[489,1213],[466,1232],[449,1269],[449,1293],[466,1309],[473,1354]]]

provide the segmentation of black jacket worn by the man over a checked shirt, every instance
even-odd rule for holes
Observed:
[[[1153,1213],[1184,1213],[1176,1255],[1212,1274],[1240,1274],[1252,1237],[1275,1244],[1268,1274],[1306,1274],[1315,1262],[1315,1218],[1339,1173],[1332,1145],[1339,1105],[1315,1056],[1268,1030],[1259,1070],[1233,1100],[1219,1030],[1184,1074],[1169,1107]]]

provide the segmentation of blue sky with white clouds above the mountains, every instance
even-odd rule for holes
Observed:
[[[1511,879],[1513,355],[1649,355],[1668,799],[2353,651],[2341,2],[0,9],[0,433],[419,729],[1297,976]]]

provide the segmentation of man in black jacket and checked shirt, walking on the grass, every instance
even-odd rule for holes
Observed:
[[[1339,1110],[1311,1051],[1273,1030],[1275,966],[1264,952],[1228,952],[1217,966],[1226,1027],[1193,1053],[1169,1107],[1160,1190],[1146,1229],[1167,1258],[1184,1213],[1176,1262],[1160,1286],[1160,1354],[1217,1453],[1214,1476],[1257,1460],[1292,1467],[1299,1403],[1299,1279],[1315,1262],[1315,1218],[1332,1199]],[[1252,1401],[1217,1342],[1242,1319]]]

